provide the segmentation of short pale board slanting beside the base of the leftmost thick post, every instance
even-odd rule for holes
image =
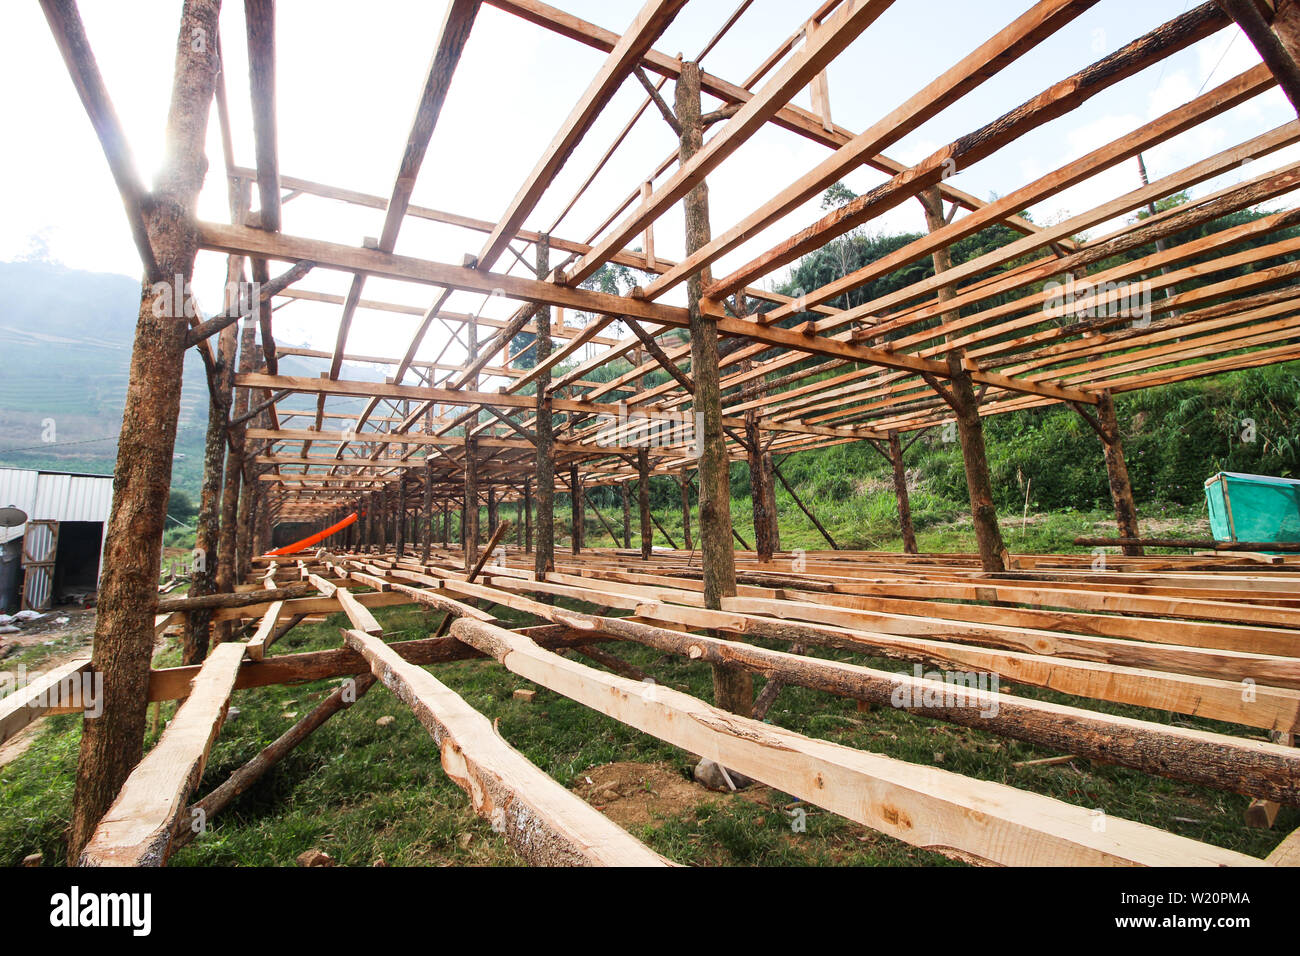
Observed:
[[[126,778],[117,800],[82,851],[81,866],[161,866],[177,819],[199,786],[208,750],[221,731],[243,644],[218,644],[203,662],[188,700],[162,739]]]

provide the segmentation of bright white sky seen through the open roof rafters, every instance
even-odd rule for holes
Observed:
[[[1178,16],[1191,1],[1101,0],[887,153],[916,161]],[[558,0],[558,5],[621,33],[641,1]],[[696,56],[734,5],[736,0],[692,0],[655,47],[670,55]],[[814,5],[812,0],[757,0],[707,56],[705,69],[741,82],[798,27]],[[864,129],[1028,7],[1028,0],[897,0],[832,65],[829,90],[836,122],[854,131]],[[161,157],[179,9],[177,0],[81,3],[100,70],[147,182]],[[277,9],[281,172],[387,196],[443,3],[280,0]],[[226,0],[221,29],[235,159],[252,166],[243,4]],[[478,219],[499,217],[603,57],[599,51],[485,4],[434,131],[413,202]],[[959,170],[952,183],[982,198],[1005,195],[1257,61],[1254,48],[1235,27],[1221,31],[983,163]],[[0,85],[6,90],[0,118],[12,133],[8,148],[0,151],[0,177],[5,183],[0,260],[23,255],[34,238],[39,238],[48,245],[51,258],[70,267],[138,276],[139,263],[103,152],[35,3],[6,3],[0,12]],[[670,83],[664,88],[670,103],[671,91]],[[530,216],[528,228],[545,229],[551,224],[642,98],[634,79],[624,83]],[[796,101],[809,105],[807,91]],[[705,108],[715,105],[706,101]],[[1294,118],[1283,95],[1273,90],[1150,151],[1149,174],[1156,179]],[[604,213],[672,151],[673,143],[667,126],[650,111],[555,234],[589,238]],[[827,155],[826,147],[768,126],[710,176],[715,234]],[[1294,150],[1277,153],[1197,191],[1271,169],[1295,155]],[[208,157],[211,168],[199,212],[203,219],[226,221],[216,111],[209,122]],[[859,193],[883,179],[870,169],[848,177]],[[1040,222],[1057,221],[1138,185],[1136,165],[1128,161],[1032,209],[1032,215]],[[715,267],[715,274],[725,274],[820,215],[816,199],[811,200],[725,256]],[[359,245],[365,235],[378,235],[382,219],[382,209],[300,196],[285,206],[283,230]],[[867,228],[887,233],[922,230],[920,207],[906,203]],[[660,220],[655,230],[656,251],[664,258],[679,258],[681,233],[679,207]],[[480,250],[482,238],[480,233],[408,219],[396,252],[459,264],[465,252]],[[512,261],[506,254],[497,268]],[[199,302],[209,310],[217,303],[224,274],[224,256],[202,254],[195,289]],[[768,277],[767,285],[781,277],[780,273]],[[348,280],[347,274],[317,269],[300,285],[342,294]],[[415,306],[428,306],[434,291],[374,278],[365,286],[367,298]],[[677,290],[666,300],[680,302],[680,294]],[[456,294],[448,308],[468,312],[481,304],[480,295]],[[337,306],[290,304],[276,313],[277,341],[329,350],[339,311]],[[484,311],[499,316],[510,307],[489,303]],[[415,323],[415,317],[363,310],[352,325],[347,350],[400,356]],[[443,339],[445,332],[434,326],[421,358],[432,358]],[[456,355],[454,349],[447,358]]]

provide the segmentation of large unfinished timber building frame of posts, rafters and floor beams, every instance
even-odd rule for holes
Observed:
[[[162,862],[187,839],[183,810],[234,689],[373,675],[415,708],[438,743],[447,773],[480,813],[503,817],[503,832],[526,857],[663,862],[627,834],[614,832],[599,814],[556,792],[482,718],[417,666],[484,654],[646,732],[918,845],[1009,864],[1260,862],[1123,821],[1098,831],[1086,812],[1046,797],[757,724],[750,717],[751,680],[757,672],[774,688],[802,683],[876,702],[887,695],[893,700],[898,688],[919,696],[941,689],[920,678],[909,684],[896,674],[800,653],[822,645],[997,674],[1086,700],[1210,717],[1274,732],[1279,743],[1119,721],[1082,708],[1004,700],[1005,695],[997,698],[1000,715],[993,718],[980,717],[988,708],[968,701],[957,708],[909,708],[1261,801],[1300,803],[1300,756],[1283,743],[1300,722],[1295,562],[1144,557],[1134,544],[1136,510],[1113,405],[1113,395],[1123,392],[1300,358],[1292,261],[1300,239],[1291,235],[1300,211],[1287,208],[1186,238],[1300,186],[1300,165],[1269,163],[1300,142],[1300,121],[1262,130],[1063,222],[1040,226],[1019,215],[1117,164],[1140,159],[1274,85],[1300,103],[1296,4],[1222,0],[1190,7],[907,165],[887,151],[1069,30],[1097,0],[1027,4],[1011,23],[997,25],[1001,29],[988,40],[861,133],[833,121],[827,68],[862,34],[888,23],[893,0],[810,4],[793,33],[740,85],[710,74],[701,60],[746,14],[749,0],[738,3],[694,60],[670,57],[655,46],[686,0],[646,0],[621,34],[541,0],[486,3],[604,53],[601,69],[495,219],[412,203],[481,0],[446,5],[387,196],[294,178],[280,169],[273,0],[244,3],[255,164],[239,165],[231,146],[230,78],[220,72],[216,39],[222,35],[218,3],[188,0],[177,48],[169,166],[162,185],[146,191],[75,4],[42,0],[122,193],[150,282],[188,277],[199,252],[229,256],[233,285],[246,269],[257,282],[255,295],[228,295],[213,317],[151,320],[156,342],[136,346],[129,423],[153,408],[156,421],[174,429],[185,350],[198,349],[208,367],[212,425],[200,550],[211,549],[213,570],[195,596],[177,606],[186,615],[191,663],[176,672],[150,671],[151,622],[161,607],[140,584],[150,558],[139,555],[156,549],[152,538],[155,531],[160,535],[160,520],[155,529],[130,518],[138,511],[152,515],[161,506],[147,501],[148,489],[160,481],[165,486],[170,449],[165,455],[147,454],[134,447],[124,428],[120,479],[125,473],[127,480],[114,499],[109,600],[91,662],[94,670],[118,669],[122,680],[114,684],[105,715],[87,721],[94,730],[83,741],[84,783],[79,782],[72,840],[79,858]],[[1061,122],[1091,98],[1158,69],[1167,57],[1234,22],[1260,49],[1264,64],[996,200],[985,203],[957,189],[954,170]],[[183,40],[192,30],[205,31],[212,43],[187,49]],[[625,83],[645,88],[641,108],[564,212],[546,229],[528,229],[556,173]],[[668,83],[671,104],[663,94]],[[803,88],[812,92],[811,111],[792,101]],[[202,134],[213,101],[225,147],[226,222],[194,215],[204,169]],[[637,122],[666,122],[679,148],[634,183],[599,229],[581,241],[564,237],[560,229],[569,209]],[[828,152],[814,169],[715,234],[707,178],[768,126]],[[1156,207],[1248,161],[1251,170],[1242,182],[1164,211]],[[764,238],[766,251],[724,276],[714,274],[723,256],[754,237],[768,237],[788,213],[863,165],[887,179],[794,234]],[[377,237],[347,246],[291,233],[283,207],[299,194],[382,209]],[[762,280],[805,254],[911,199],[926,211],[928,232],[920,238],[798,298],[760,287]],[[656,255],[654,230],[679,204],[685,212],[685,258],[670,261]],[[1082,235],[1136,213],[1143,215],[1108,234]],[[399,255],[398,234],[408,219],[468,230],[481,247],[462,263]],[[1018,238],[954,264],[953,243],[992,226],[1005,226]],[[636,242],[640,248],[630,248]],[[932,267],[923,278],[857,304],[832,304],[850,303],[853,293],[918,263]],[[584,285],[608,264],[636,269],[645,284],[625,295]],[[322,271],[347,273],[347,294],[309,289],[313,274]],[[363,298],[370,277],[426,287],[430,304]],[[679,287],[685,290],[685,307],[666,302]],[[455,293],[504,297],[514,312],[507,317],[452,312],[446,306]],[[147,287],[142,328],[148,297]],[[273,311],[300,300],[339,307],[333,351],[276,343]],[[359,311],[419,316],[404,355],[348,352]],[[572,328],[563,311],[585,313],[588,321]],[[254,312],[257,321],[240,329],[240,317]],[[615,324],[628,334],[612,334]],[[446,343],[434,358],[420,358],[436,328],[450,333]],[[455,342],[464,350],[463,362],[447,358]],[[289,355],[328,364],[320,377],[287,376],[278,365]],[[344,362],[393,372],[386,382],[348,380]],[[299,403],[302,395],[307,405]],[[364,401],[360,414],[356,399]],[[1067,557],[1011,555],[998,531],[983,419],[1050,403],[1076,408],[1104,444],[1126,545],[1124,555],[1101,571]],[[915,551],[901,436],[946,423],[956,424],[962,446],[976,561],[841,551],[824,529],[837,550],[797,562],[780,550],[774,489],[785,480],[777,457],[868,441],[892,462],[906,550]],[[750,468],[755,518],[755,548],[741,542],[741,551],[733,549],[738,536],[728,490],[728,468],[737,460]],[[692,470],[699,488],[698,562],[689,544],[688,551],[677,551],[676,542],[664,551],[651,546],[654,476],[672,476],[680,484],[690,540]],[[630,551],[633,484],[641,516],[638,553]],[[623,493],[621,536],[585,503],[585,489],[599,485]],[[573,514],[572,554],[563,558],[555,551],[556,492],[569,496]],[[499,509],[506,502],[517,503],[523,519],[524,541],[515,545],[504,542],[510,524]],[[816,522],[807,505],[798,503]],[[491,538],[480,550],[484,505]],[[329,542],[329,551],[294,568],[313,596],[277,589],[283,564],[256,557],[269,545],[272,525],[324,527],[354,510],[363,515],[360,522]],[[589,510],[623,549],[584,546]],[[458,536],[451,533],[452,511],[460,515]],[[448,546],[452,537],[459,548]],[[485,568],[486,578],[476,580]],[[562,611],[555,598],[619,609],[627,617]],[[367,609],[408,601],[455,619],[450,636],[386,645]],[[506,631],[481,610],[491,605],[528,613],[538,624]],[[337,653],[269,654],[286,627],[322,610],[339,610],[351,620]],[[289,624],[282,626],[286,618]],[[255,628],[247,644],[218,643],[208,653],[209,627],[217,641],[229,641],[244,622]],[[762,650],[745,637],[788,640],[794,653]],[[554,653],[608,640],[646,643],[708,663],[718,706],[667,692],[646,698],[636,682]],[[618,661],[599,653],[606,666]],[[1242,682],[1253,688],[1249,700]],[[370,683],[367,676],[361,689]],[[177,697],[187,697],[177,719],[155,750],[138,761],[139,741],[131,740],[140,736],[147,701]],[[229,803],[256,779],[259,767],[350,702],[335,697],[268,748],[261,765],[240,771],[230,788],[212,795],[207,806]],[[987,695],[976,701],[989,702]],[[690,721],[675,719],[680,717]],[[125,757],[109,761],[105,753],[114,744],[126,748]],[[159,790],[174,795],[165,806],[140,796]],[[939,799],[940,791],[952,796]]]

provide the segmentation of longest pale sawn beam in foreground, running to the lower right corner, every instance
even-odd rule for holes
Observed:
[[[662,685],[594,670],[491,624],[455,637],[512,672],[757,780],[916,847],[1027,866],[1261,866],[1082,806],[759,723]]]

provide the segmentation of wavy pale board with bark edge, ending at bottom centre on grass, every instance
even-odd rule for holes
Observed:
[[[370,671],[433,736],[447,777],[530,864],[662,866],[667,861],[507,744],[486,717],[378,637],[344,632]]]

